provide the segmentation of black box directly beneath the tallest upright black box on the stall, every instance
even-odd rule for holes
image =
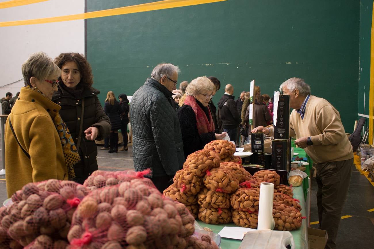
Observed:
[[[272,140],[272,169],[290,170],[289,140]]]

